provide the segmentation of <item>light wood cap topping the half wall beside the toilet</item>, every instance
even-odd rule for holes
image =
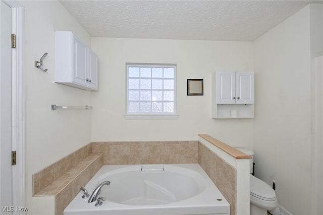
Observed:
[[[236,159],[250,159],[251,156],[243,153],[242,151],[239,151],[236,148],[233,148],[232,146],[225,144],[224,142],[221,142],[220,140],[217,140],[214,137],[209,136],[208,134],[198,134],[201,138],[207,140],[211,144],[217,146],[221,150],[227,152],[229,155],[233,156]]]

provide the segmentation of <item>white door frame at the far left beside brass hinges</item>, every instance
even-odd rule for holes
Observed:
[[[12,150],[17,164],[12,166],[13,206],[26,207],[25,192],[25,8],[18,1],[1,0],[12,9]],[[14,211],[13,214],[18,214]],[[25,214],[20,212],[19,214]]]

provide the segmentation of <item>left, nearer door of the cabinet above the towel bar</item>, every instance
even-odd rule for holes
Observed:
[[[87,86],[87,46],[74,37],[73,82]]]

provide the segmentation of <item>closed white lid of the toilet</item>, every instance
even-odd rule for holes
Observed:
[[[275,201],[276,193],[269,185],[250,174],[250,195],[266,201]]]

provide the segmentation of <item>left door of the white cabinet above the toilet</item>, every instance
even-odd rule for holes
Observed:
[[[217,103],[236,103],[235,72],[217,71]]]

